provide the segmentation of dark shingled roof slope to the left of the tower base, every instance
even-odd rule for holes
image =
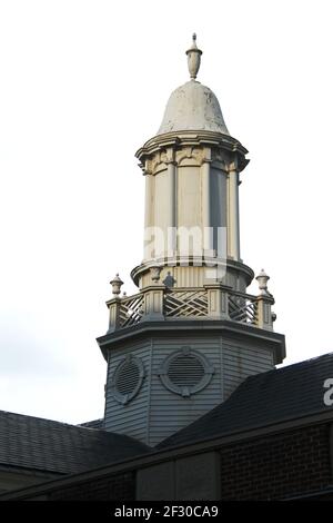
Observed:
[[[0,466],[68,474],[149,451],[129,436],[0,411]]]

